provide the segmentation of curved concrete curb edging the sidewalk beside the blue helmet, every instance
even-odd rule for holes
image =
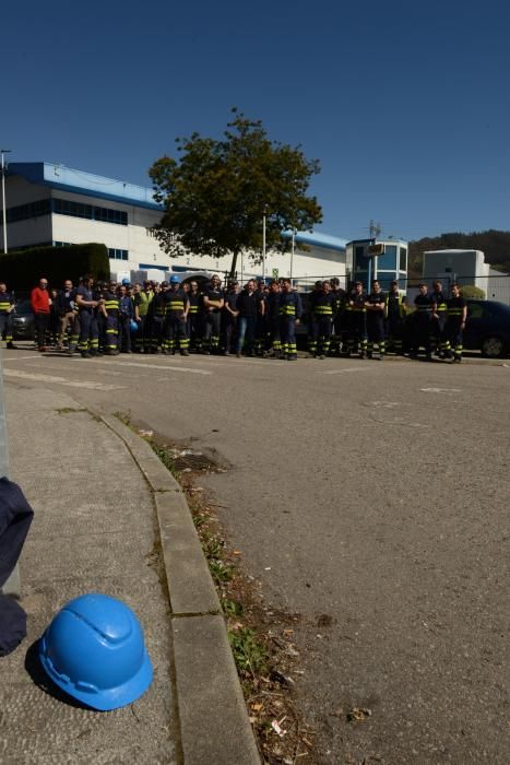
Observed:
[[[154,496],[170,595],[177,705],[186,765],[260,765],[234,657],[186,496],[151,446],[98,415],[127,446]]]

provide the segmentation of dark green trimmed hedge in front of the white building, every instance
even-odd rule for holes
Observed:
[[[109,279],[110,262],[105,245],[32,247],[0,254],[0,281],[5,282],[8,290],[32,290],[41,276],[48,279],[50,287],[60,289],[66,279],[78,284],[85,273],[95,279]]]

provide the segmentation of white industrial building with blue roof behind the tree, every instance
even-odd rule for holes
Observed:
[[[170,272],[224,272],[230,264],[227,257],[189,254],[170,258],[154,237],[162,207],[154,201],[152,189],[63,165],[11,163],[5,176],[5,210],[9,250],[98,242],[108,248],[112,274],[146,274],[159,280]],[[300,249],[300,244],[309,249]],[[265,274],[293,275],[303,284],[320,276],[344,281],[345,245],[345,239],[325,234],[297,233],[294,257],[290,252],[268,252]],[[248,255],[239,258],[239,279],[261,274],[260,262],[253,264]]]

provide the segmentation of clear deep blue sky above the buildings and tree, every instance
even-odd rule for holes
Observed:
[[[232,106],[322,172],[318,231],[510,229],[508,0],[8,0],[0,145],[150,186]]]

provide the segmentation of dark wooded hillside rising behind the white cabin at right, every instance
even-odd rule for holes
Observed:
[[[429,249],[481,249],[486,263],[510,273],[510,231],[454,232],[410,242],[410,276],[422,275],[423,254]]]

